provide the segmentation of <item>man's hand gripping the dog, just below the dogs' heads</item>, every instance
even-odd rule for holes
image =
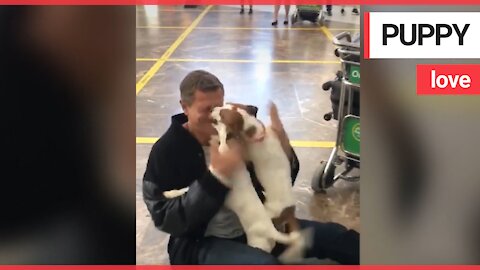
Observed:
[[[229,140],[229,149],[227,151],[220,153],[218,147],[218,141],[210,141],[210,166],[213,168],[212,173],[220,174],[215,175],[219,178],[230,178],[236,169],[244,165],[243,152],[245,151],[245,147],[234,139]]]

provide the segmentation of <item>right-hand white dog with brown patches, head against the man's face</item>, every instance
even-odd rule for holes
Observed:
[[[311,237],[310,231],[300,231],[295,218],[290,162],[277,134],[271,127],[265,127],[252,112],[248,112],[249,108],[241,104],[227,104],[213,110],[220,147],[226,145],[230,137],[242,140],[247,145],[247,159],[253,162],[255,174],[265,190],[264,209],[275,225],[286,224],[294,239],[279,259],[282,262],[294,262],[303,258]]]

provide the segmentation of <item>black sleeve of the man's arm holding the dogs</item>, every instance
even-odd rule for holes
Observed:
[[[143,178],[143,198],[157,228],[172,236],[203,236],[223,205],[228,189],[209,171],[193,181],[182,196],[167,199],[164,191],[179,189],[166,147],[154,145]],[[183,188],[183,187],[180,187]]]

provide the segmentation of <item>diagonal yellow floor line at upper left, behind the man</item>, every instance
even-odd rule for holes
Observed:
[[[136,84],[137,95],[153,78],[155,73],[157,73],[157,71],[163,66],[165,61],[170,58],[170,56],[178,48],[178,46],[180,46],[180,44],[187,38],[187,36],[193,31],[193,29],[200,23],[200,21],[203,19],[203,17],[205,17],[205,15],[211,8],[212,5],[205,8],[205,10],[203,10],[202,13],[198,15],[198,17],[192,22],[192,24],[187,29],[185,29],[185,31],[177,38],[177,40],[175,40],[175,42],[167,49],[167,51],[162,55],[162,57],[160,57],[160,59],[155,62],[155,64],[148,70],[148,72],[143,75],[142,79],[140,79],[140,81],[138,81],[138,83]]]

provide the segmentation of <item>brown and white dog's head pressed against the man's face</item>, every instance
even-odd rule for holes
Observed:
[[[265,126],[255,118],[256,108],[242,104],[227,104],[216,107],[212,111],[214,126],[224,125],[226,139],[237,138],[246,142],[262,141],[265,137]],[[219,130],[217,128],[217,130]]]

